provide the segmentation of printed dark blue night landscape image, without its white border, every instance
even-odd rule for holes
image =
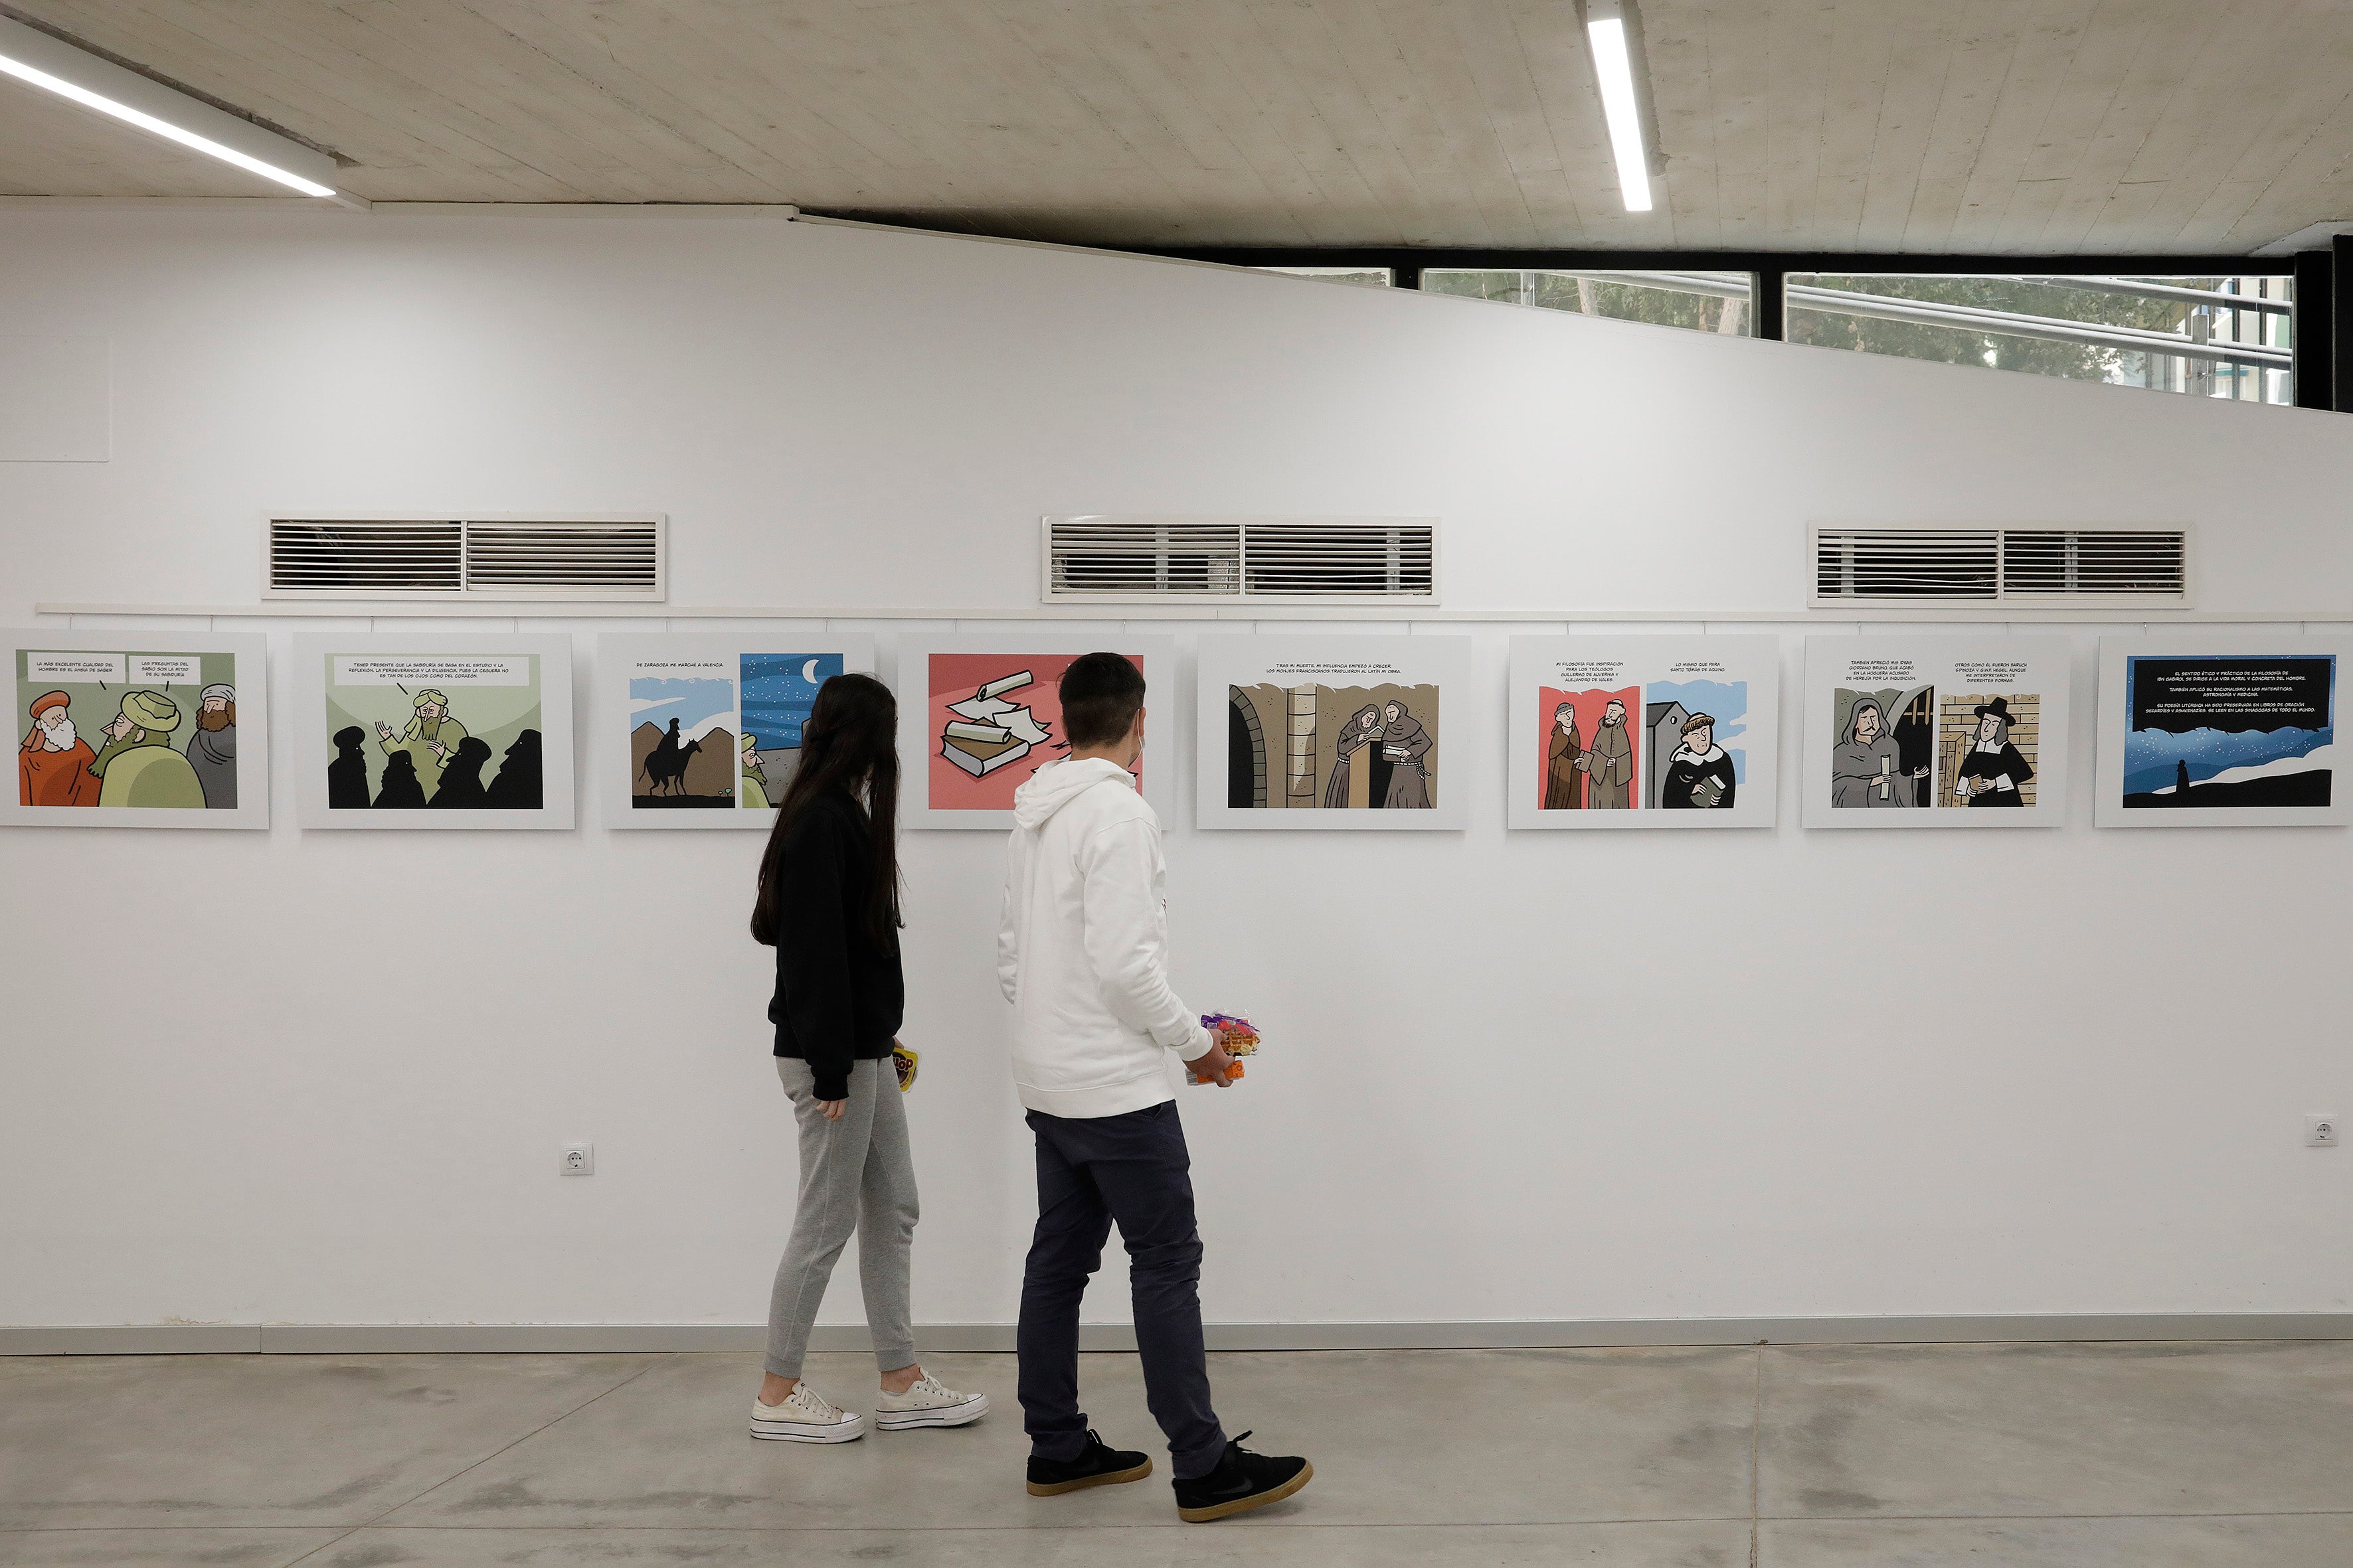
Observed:
[[[2337,656],[2125,658],[2125,811],[2329,806]]]

